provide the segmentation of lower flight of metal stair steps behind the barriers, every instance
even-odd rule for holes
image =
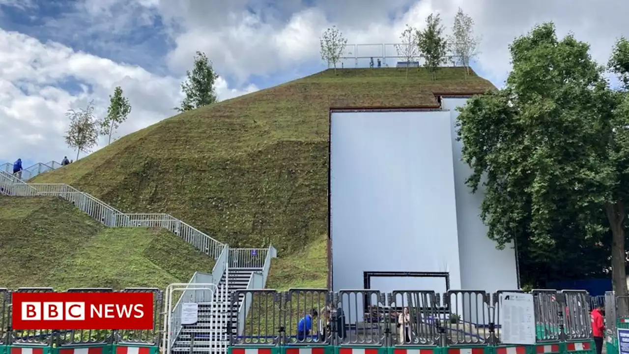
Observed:
[[[175,340],[170,353],[227,353],[229,338],[227,334],[227,322],[231,321],[231,334],[237,334],[236,320],[238,309],[244,299],[244,294],[238,302],[231,307],[231,295],[237,290],[247,289],[252,274],[262,271],[262,268],[230,268],[227,282],[227,299],[221,299],[222,290],[225,287],[225,273],[218,284],[218,290],[214,294],[214,302],[200,303],[198,321],[196,324],[183,325],[177,340]]]

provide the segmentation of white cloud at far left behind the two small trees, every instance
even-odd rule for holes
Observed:
[[[68,80],[81,86],[64,89]],[[182,98],[181,80],[0,30],[0,156],[10,161],[16,157],[50,161],[73,156],[63,138],[65,112],[94,100],[96,113],[102,117],[108,95],[119,85],[132,111],[117,135],[147,127],[174,114],[172,108]],[[223,79],[216,83],[221,100],[256,89],[253,85],[244,90],[229,88]]]

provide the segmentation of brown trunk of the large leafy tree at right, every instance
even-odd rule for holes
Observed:
[[[617,316],[629,316],[627,278],[625,271],[625,205],[621,201],[605,205],[611,228],[611,283],[618,299]]]

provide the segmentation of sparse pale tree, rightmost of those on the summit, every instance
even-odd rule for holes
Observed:
[[[474,36],[474,20],[465,14],[461,8],[454,16],[454,26],[452,35],[448,38],[455,64],[464,66],[465,76],[469,75],[470,60],[479,52],[477,47],[481,42],[481,37]]]

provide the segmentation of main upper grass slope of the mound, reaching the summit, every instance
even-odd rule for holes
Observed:
[[[434,107],[494,89],[465,69],[327,70],[163,120],[35,178],[126,212],[167,212],[232,247],[303,252],[328,229],[330,108]],[[321,248],[311,248],[322,252]],[[321,253],[314,258],[325,256]]]

